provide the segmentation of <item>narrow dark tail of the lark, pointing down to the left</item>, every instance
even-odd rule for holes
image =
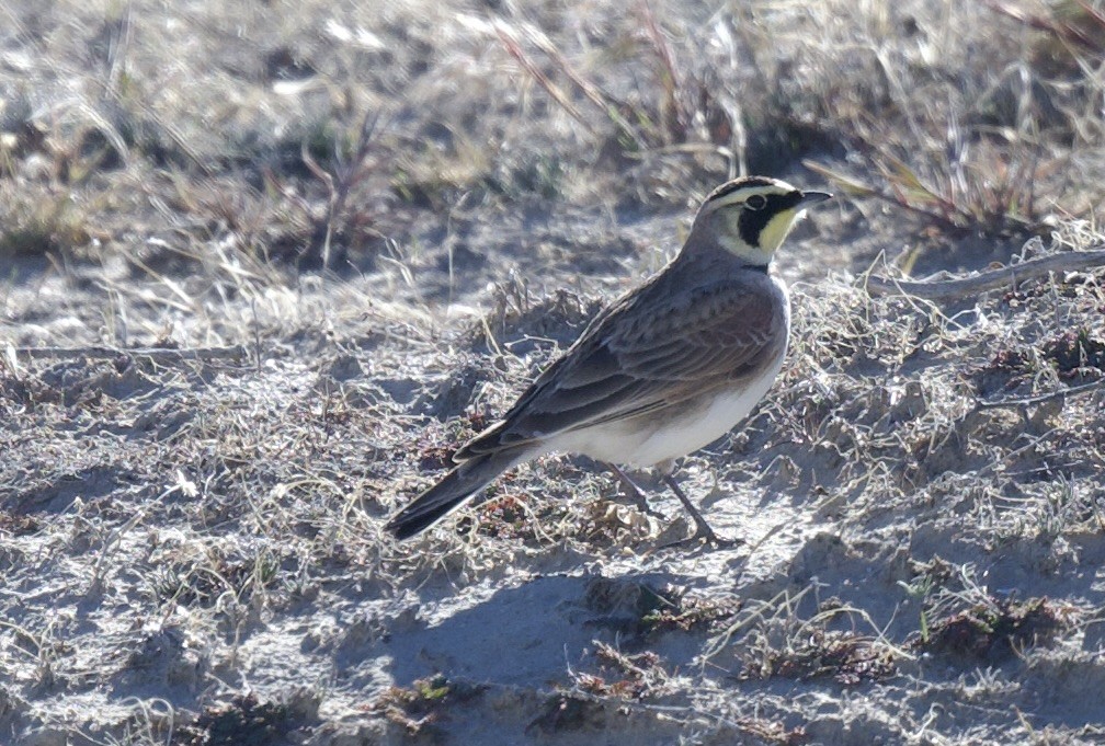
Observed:
[[[457,463],[440,482],[414,498],[396,513],[388,531],[396,539],[410,539],[453,511],[495,477],[528,458],[525,450],[509,449],[481,454]]]

